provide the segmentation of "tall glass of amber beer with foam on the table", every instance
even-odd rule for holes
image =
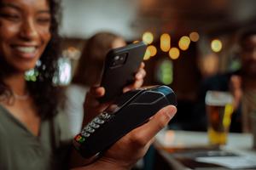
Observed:
[[[207,91],[207,133],[210,144],[223,145],[227,143],[233,113],[232,103],[233,97],[230,93]]]

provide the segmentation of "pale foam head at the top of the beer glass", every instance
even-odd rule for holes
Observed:
[[[224,106],[227,104],[232,104],[233,96],[227,92],[220,91],[207,91],[206,104],[207,105],[219,105]]]

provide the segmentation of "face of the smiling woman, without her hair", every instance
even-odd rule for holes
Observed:
[[[37,8],[29,10],[30,6]],[[29,1],[3,3],[1,18],[3,57],[17,71],[33,68],[50,38],[48,4],[46,2],[33,4]],[[26,65],[22,65],[22,62]]]

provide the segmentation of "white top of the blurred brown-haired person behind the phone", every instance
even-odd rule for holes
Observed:
[[[73,136],[80,133],[84,118],[84,99],[89,88],[78,84],[70,84],[66,90],[67,100],[64,105],[64,113],[69,120],[69,128]]]

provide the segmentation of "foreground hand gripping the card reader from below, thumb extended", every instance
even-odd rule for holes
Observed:
[[[130,133],[119,139],[99,160],[91,163],[89,166],[76,169],[130,169],[146,154],[148,147],[154,141],[154,136],[168,124],[176,111],[177,109],[173,105],[164,107],[151,117],[147,123],[133,129]]]

